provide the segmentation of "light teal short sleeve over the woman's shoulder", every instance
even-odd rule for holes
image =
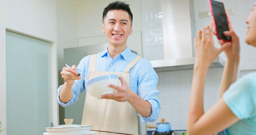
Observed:
[[[236,80],[223,94],[227,106],[239,119],[256,115],[256,72]]]

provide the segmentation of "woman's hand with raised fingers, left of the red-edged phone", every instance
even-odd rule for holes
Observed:
[[[209,31],[209,33],[208,33]],[[195,38],[195,66],[205,66],[209,68],[212,61],[221,53],[230,47],[231,43],[226,42],[222,44],[221,48],[216,48],[213,42],[213,22],[210,26],[205,26],[203,30],[197,31]]]

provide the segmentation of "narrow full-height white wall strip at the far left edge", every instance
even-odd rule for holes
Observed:
[[[0,121],[6,128],[6,1],[0,3]],[[6,130],[1,134],[6,135]]]

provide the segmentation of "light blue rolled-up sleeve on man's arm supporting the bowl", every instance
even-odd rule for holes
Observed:
[[[154,122],[160,112],[160,104],[158,100],[159,91],[156,89],[158,84],[158,75],[152,68],[151,63],[142,59],[138,62],[138,96],[143,100],[149,101],[151,105],[151,114],[149,117],[141,116],[141,122]]]

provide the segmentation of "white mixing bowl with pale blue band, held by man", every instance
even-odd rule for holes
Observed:
[[[93,97],[101,99],[101,95],[114,93],[116,89],[109,87],[109,84],[118,86],[118,75],[102,75],[86,82],[86,91]]]

